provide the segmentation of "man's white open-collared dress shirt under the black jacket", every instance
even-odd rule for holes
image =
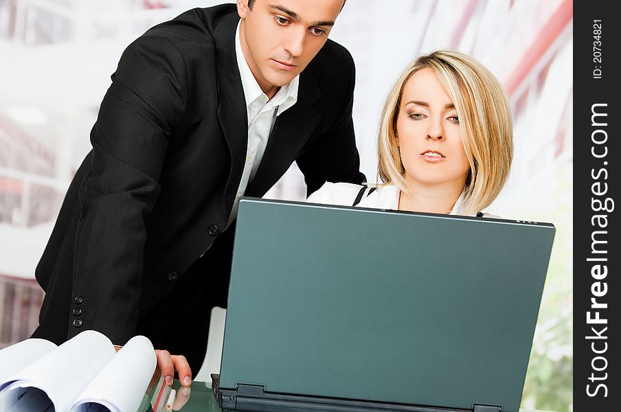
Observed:
[[[248,115],[248,148],[242,179],[239,183],[233,209],[229,216],[227,227],[237,216],[239,198],[244,195],[248,184],[254,179],[261,159],[267,147],[267,139],[274,126],[276,117],[297,102],[297,88],[300,84],[300,75],[295,76],[289,84],[281,87],[273,98],[268,99],[254,78],[244,54],[239,36],[239,23],[235,33],[235,53],[237,66],[242,80],[242,88],[246,99]]]

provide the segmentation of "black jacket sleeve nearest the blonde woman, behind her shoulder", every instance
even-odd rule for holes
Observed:
[[[346,55],[350,76],[340,114],[332,126],[319,135],[297,159],[297,166],[304,174],[307,196],[319,189],[326,181],[357,184],[366,181],[364,174],[360,172],[360,157],[356,148],[352,119],[356,69],[350,54],[346,52]]]

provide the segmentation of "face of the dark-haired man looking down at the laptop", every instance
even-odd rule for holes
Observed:
[[[262,91],[289,84],[326,43],[343,0],[237,1],[242,51]]]

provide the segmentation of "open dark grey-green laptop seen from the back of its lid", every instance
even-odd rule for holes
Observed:
[[[218,404],[517,412],[554,231],[242,198]]]

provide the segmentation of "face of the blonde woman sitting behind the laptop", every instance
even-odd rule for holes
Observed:
[[[409,187],[449,183],[463,189],[470,164],[457,109],[432,69],[416,71],[405,83],[396,126]]]

